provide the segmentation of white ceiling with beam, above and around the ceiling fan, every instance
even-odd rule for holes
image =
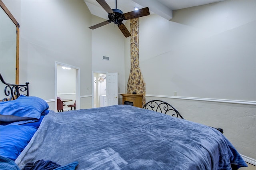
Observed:
[[[116,8],[116,0],[105,0],[110,8]],[[134,11],[134,7],[149,7],[150,14],[158,14],[167,20],[172,19],[172,11],[193,6],[210,4],[222,0],[117,0],[117,8],[122,12]],[[91,14],[108,20],[107,12],[96,0],[84,0]]]

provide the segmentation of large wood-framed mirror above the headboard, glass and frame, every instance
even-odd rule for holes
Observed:
[[[19,84],[19,24],[0,0],[0,73],[7,83]]]

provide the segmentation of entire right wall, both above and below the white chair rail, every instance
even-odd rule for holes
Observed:
[[[139,19],[146,101],[160,98],[187,120],[223,128],[254,163],[255,9],[256,1],[224,1],[174,11],[171,21],[156,14]],[[127,82],[130,54],[125,54]]]

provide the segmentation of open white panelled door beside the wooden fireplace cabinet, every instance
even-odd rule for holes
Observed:
[[[117,73],[107,73],[106,97],[107,106],[118,105],[118,79]]]

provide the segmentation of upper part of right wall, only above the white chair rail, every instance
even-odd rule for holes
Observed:
[[[140,18],[147,93],[256,101],[255,3],[226,1],[177,10],[171,21],[157,15]],[[155,75],[156,81],[150,79]]]

